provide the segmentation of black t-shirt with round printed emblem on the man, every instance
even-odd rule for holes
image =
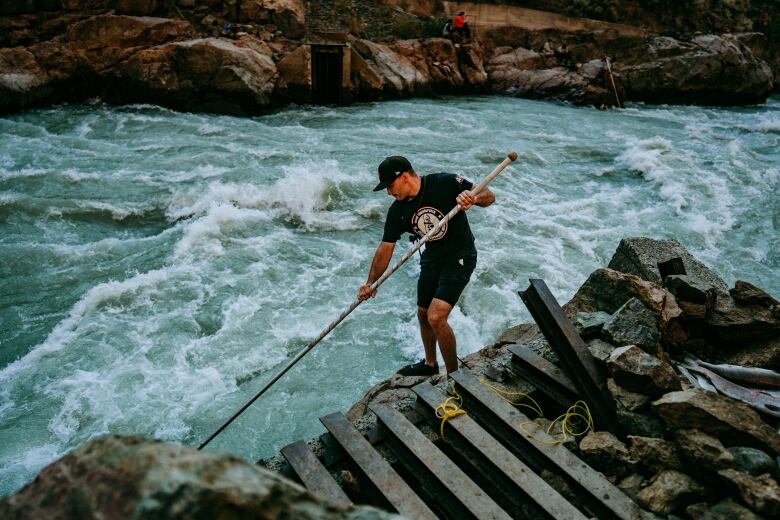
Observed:
[[[397,242],[404,233],[421,238],[457,205],[455,198],[474,185],[452,173],[433,173],[421,178],[420,192],[412,200],[396,200],[387,210],[382,242]],[[458,212],[425,244],[421,264],[447,258],[474,256],[474,235],[468,218]]]

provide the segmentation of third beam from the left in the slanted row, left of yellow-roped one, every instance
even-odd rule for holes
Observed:
[[[386,405],[369,409],[387,428],[393,453],[452,518],[511,518],[401,412]]]

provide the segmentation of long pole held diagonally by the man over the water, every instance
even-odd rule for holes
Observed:
[[[501,164],[499,164],[498,166],[496,166],[496,169],[495,169],[495,170],[493,170],[493,171],[490,173],[490,175],[488,175],[487,177],[485,177],[485,180],[483,180],[483,181],[482,181],[482,182],[481,182],[481,183],[480,183],[480,184],[479,184],[479,185],[478,185],[476,188],[474,188],[474,189],[472,189],[472,190],[471,190],[471,193],[472,193],[472,194],[474,194],[474,195],[477,195],[477,194],[479,194],[479,192],[480,192],[480,191],[482,191],[483,189],[485,189],[485,187],[486,187],[488,184],[490,184],[490,183],[493,181],[493,179],[495,179],[496,177],[498,177],[498,175],[499,175],[499,174],[500,174],[502,171],[504,171],[504,169],[505,169],[507,166],[509,166],[509,165],[512,163],[512,161],[514,161],[514,160],[516,160],[516,159],[517,159],[517,153],[516,153],[516,152],[511,152],[511,153],[509,153],[509,154],[506,156],[506,159],[504,159],[503,161],[501,161]],[[410,248],[410,249],[409,249],[409,251],[407,251],[407,252],[406,252],[406,254],[403,256],[403,258],[401,258],[401,259],[400,259],[400,260],[399,260],[399,261],[398,261],[398,262],[397,262],[397,263],[396,263],[396,264],[395,264],[395,265],[394,265],[392,268],[390,268],[389,270],[385,271],[385,272],[384,272],[384,274],[383,274],[382,276],[380,276],[380,277],[379,277],[379,279],[377,279],[377,281],[375,281],[373,284],[371,284],[371,291],[373,292],[373,291],[374,291],[375,289],[377,289],[377,288],[378,288],[380,285],[382,285],[382,284],[385,282],[385,280],[387,280],[388,278],[390,278],[390,276],[392,276],[392,274],[393,274],[393,273],[395,273],[395,272],[398,270],[398,268],[400,268],[400,267],[401,267],[401,266],[404,264],[404,262],[406,262],[407,260],[409,260],[409,258],[411,258],[411,256],[412,256],[412,255],[413,255],[415,252],[417,252],[417,250],[419,250],[419,249],[420,249],[420,248],[423,246],[423,244],[425,244],[425,243],[426,243],[428,240],[430,240],[430,239],[431,239],[431,237],[432,237],[432,236],[434,236],[436,233],[438,233],[438,232],[439,232],[439,230],[442,228],[442,226],[444,226],[444,224],[446,224],[446,223],[447,223],[447,222],[448,222],[448,221],[449,221],[449,220],[450,220],[452,217],[454,217],[455,215],[457,215],[457,214],[458,214],[458,212],[459,212],[460,210],[461,210],[461,207],[460,207],[459,205],[456,205],[454,208],[452,208],[452,209],[450,210],[450,212],[449,212],[449,213],[447,213],[447,215],[446,215],[446,216],[445,216],[443,219],[441,219],[441,220],[440,220],[440,221],[439,221],[439,222],[438,222],[438,223],[437,223],[435,226],[433,226],[433,228],[431,228],[431,229],[430,229],[430,230],[429,230],[429,231],[428,231],[428,232],[425,234],[425,236],[423,236],[423,237],[422,237],[422,238],[421,238],[421,239],[420,239],[420,240],[417,242],[417,244],[415,244],[415,246],[414,246],[414,247]],[[220,426],[219,428],[217,428],[217,430],[216,430],[214,433],[212,433],[211,435],[209,435],[208,439],[206,439],[205,441],[203,441],[203,442],[200,444],[200,446],[198,446],[198,449],[199,449],[199,450],[203,449],[203,448],[204,448],[204,447],[205,447],[205,446],[206,446],[208,443],[210,443],[210,442],[211,442],[211,441],[214,439],[214,437],[216,437],[217,435],[219,435],[220,433],[222,433],[222,431],[223,431],[225,428],[227,428],[227,427],[230,425],[230,423],[232,423],[234,420],[236,420],[236,418],[237,418],[239,415],[241,415],[242,413],[244,413],[244,411],[245,411],[247,408],[249,408],[249,407],[252,405],[252,403],[254,403],[254,402],[255,402],[255,401],[256,401],[256,400],[257,400],[257,399],[258,399],[258,398],[259,398],[261,395],[263,395],[263,394],[266,392],[266,390],[268,390],[269,388],[271,388],[271,386],[273,386],[273,384],[274,384],[274,383],[276,383],[276,382],[277,382],[277,381],[278,381],[278,380],[279,380],[279,379],[280,379],[280,378],[281,378],[281,377],[282,377],[284,374],[286,374],[288,370],[290,370],[290,369],[291,369],[293,366],[295,366],[295,364],[296,364],[298,361],[300,361],[300,360],[301,360],[301,358],[303,358],[303,356],[305,356],[306,354],[308,354],[308,353],[309,353],[309,351],[310,351],[311,349],[313,349],[315,346],[317,346],[317,343],[319,343],[320,341],[322,341],[322,339],[323,339],[325,336],[327,336],[327,335],[328,335],[328,334],[329,334],[329,333],[330,333],[330,332],[331,332],[333,329],[335,329],[335,328],[336,328],[336,326],[337,326],[339,323],[341,323],[341,322],[344,320],[344,318],[346,318],[347,316],[349,316],[349,315],[350,315],[350,313],[351,313],[352,311],[354,311],[354,310],[357,308],[357,306],[358,306],[358,305],[360,305],[361,303],[363,303],[363,301],[362,301],[362,300],[355,300],[354,302],[352,302],[352,304],[351,304],[349,307],[347,307],[346,309],[344,309],[344,311],[343,311],[341,314],[339,314],[339,317],[338,317],[338,318],[336,318],[335,320],[333,320],[333,322],[331,322],[331,324],[330,324],[330,325],[328,325],[327,327],[325,327],[325,328],[323,329],[323,331],[322,331],[322,332],[320,332],[320,333],[319,333],[319,335],[318,335],[316,338],[314,338],[313,340],[311,340],[311,341],[309,342],[309,344],[308,344],[308,345],[306,345],[306,348],[304,348],[303,350],[301,350],[300,352],[298,352],[298,354],[296,354],[296,355],[295,355],[295,357],[294,357],[294,358],[292,358],[292,359],[290,360],[290,362],[289,362],[289,363],[287,363],[287,365],[285,365],[285,367],[284,367],[284,368],[282,368],[282,369],[281,369],[281,370],[280,370],[280,371],[279,371],[279,372],[278,372],[278,373],[277,373],[277,374],[276,374],[276,375],[275,375],[275,376],[274,376],[274,377],[273,377],[273,378],[272,378],[270,381],[268,381],[268,382],[267,382],[265,385],[263,385],[263,388],[261,388],[261,389],[260,389],[260,391],[259,391],[259,392],[257,392],[257,393],[254,395],[254,397],[252,397],[252,398],[251,398],[249,401],[247,401],[247,402],[244,404],[244,406],[242,406],[241,408],[239,408],[239,409],[238,409],[238,411],[237,411],[236,413],[234,413],[234,414],[233,414],[233,415],[230,417],[230,419],[228,419],[227,421],[225,421],[225,422],[222,424],[222,426]]]

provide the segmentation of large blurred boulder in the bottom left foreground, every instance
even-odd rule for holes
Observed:
[[[0,518],[399,518],[334,504],[229,455],[137,437],[92,440],[47,466]]]

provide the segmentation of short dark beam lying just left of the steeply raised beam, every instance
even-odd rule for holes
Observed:
[[[563,370],[520,345],[509,347],[508,350],[512,353],[512,371],[553,399],[561,408],[565,410],[579,400],[574,383]]]

